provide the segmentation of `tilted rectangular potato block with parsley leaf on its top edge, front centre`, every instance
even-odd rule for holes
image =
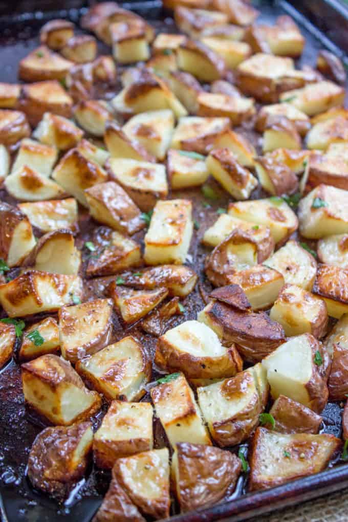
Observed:
[[[151,399],[173,448],[179,442],[211,444],[193,391],[182,373],[151,388]]]

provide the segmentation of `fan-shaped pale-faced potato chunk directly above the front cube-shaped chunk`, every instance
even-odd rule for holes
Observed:
[[[140,400],[151,378],[151,362],[143,346],[134,337],[124,337],[81,359],[76,371],[101,392],[107,400]]]

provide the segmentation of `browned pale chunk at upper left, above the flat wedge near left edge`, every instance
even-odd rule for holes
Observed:
[[[45,112],[33,133],[33,137],[41,143],[51,145],[59,150],[68,150],[75,147],[82,136],[83,131],[73,122],[51,112]]]

